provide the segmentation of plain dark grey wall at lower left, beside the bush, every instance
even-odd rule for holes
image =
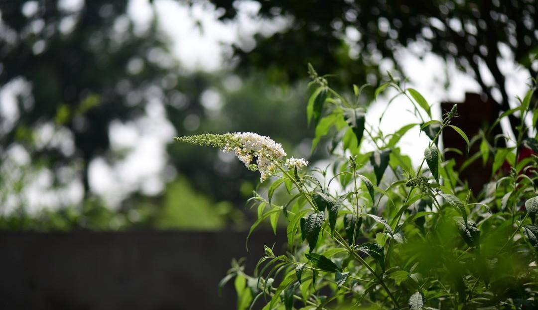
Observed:
[[[252,271],[285,233],[0,233],[0,309],[235,309],[232,257]]]

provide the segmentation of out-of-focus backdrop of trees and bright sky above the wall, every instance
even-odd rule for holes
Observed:
[[[538,70],[535,20],[534,1],[1,1],[0,228],[242,229],[258,175],[173,136],[250,131],[321,160],[309,62],[344,93],[371,84],[367,104],[434,57],[434,82],[465,75],[452,92],[507,110]]]

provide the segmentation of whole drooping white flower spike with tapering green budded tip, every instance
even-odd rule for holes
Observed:
[[[304,158],[288,158],[280,143],[267,136],[251,132],[202,134],[177,137],[175,140],[200,146],[218,147],[225,153],[233,152],[246,168],[260,172],[260,182],[264,182],[277,170],[277,164],[284,164],[288,169],[302,168],[308,165]],[[256,164],[252,161],[256,158]]]

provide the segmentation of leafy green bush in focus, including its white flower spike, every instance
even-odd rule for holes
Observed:
[[[522,120],[534,114],[536,126],[534,88],[470,140],[451,125],[457,105],[435,120],[420,93],[393,77],[376,95],[394,88],[409,99],[420,124],[384,134],[365,126],[360,88],[353,85],[349,100],[312,67],[309,73],[316,85],[307,106],[313,149],[330,138],[330,167],[308,171],[308,162],[287,158],[278,143],[252,133],[176,138],[234,152],[270,183],[266,194],[255,192],[249,200],[258,214],[250,233],[263,221],[276,232],[279,217],[286,219],[287,251],[265,247],[253,275],[234,262],[222,280],[221,286],[235,278],[238,309],[538,308],[538,157],[520,156],[523,148],[536,152],[536,139],[526,138],[524,121],[515,147],[491,145],[502,137],[488,136],[509,114]],[[431,141],[417,169],[398,147],[414,126]],[[491,182],[478,193],[458,178],[462,167],[445,159],[448,150],[436,145],[452,130],[468,145],[457,152],[480,143],[469,158],[493,162],[492,171],[483,171]],[[365,140],[377,149],[361,153]],[[274,203],[277,190],[288,195],[286,203]]]

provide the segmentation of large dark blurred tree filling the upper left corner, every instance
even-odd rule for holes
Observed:
[[[154,25],[133,33],[124,15],[126,2],[88,1],[80,9],[59,3],[35,2],[36,10],[26,12],[27,2],[0,3],[5,27],[0,84],[15,78],[31,84],[30,99],[19,100],[19,116],[3,128],[0,142],[4,149],[23,145],[32,161],[44,160],[49,167],[80,160],[88,193],[89,163],[110,146],[108,125],[140,116],[143,92],[166,75],[164,62],[145,61],[151,53],[166,53],[165,45]],[[51,121],[72,134],[74,152],[34,145],[33,131]]]

